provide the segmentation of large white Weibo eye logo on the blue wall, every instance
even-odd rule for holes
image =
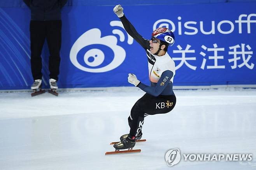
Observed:
[[[111,21],[111,26],[120,26],[123,28],[121,21]],[[114,29],[112,31],[113,34],[119,35],[120,41],[124,41],[124,34],[121,30]],[[128,44],[133,43],[133,38],[128,35]],[[103,62],[107,59],[104,52],[97,47],[93,49],[89,49],[83,55],[82,63],[81,60],[77,59],[79,52],[87,46],[90,45],[103,45],[107,46],[113,51],[114,59],[107,65],[100,67]],[[72,64],[82,71],[87,71],[91,73],[103,73],[106,71],[110,71],[112,69],[120,66],[126,56],[125,50],[117,45],[117,38],[114,35],[108,35],[101,37],[101,31],[98,28],[89,29],[85,33],[83,33],[74,43],[70,50],[70,61]],[[109,60],[109,59],[108,59]],[[80,62],[80,63],[79,63]],[[87,65],[87,66],[85,66]]]

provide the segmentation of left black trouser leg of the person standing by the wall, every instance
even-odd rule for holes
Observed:
[[[42,79],[42,48],[46,38],[44,21],[30,21],[31,71],[33,79]]]

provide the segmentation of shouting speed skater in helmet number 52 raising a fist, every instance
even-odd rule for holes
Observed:
[[[146,94],[132,107],[128,117],[130,133],[122,135],[120,142],[114,144],[114,148],[119,150],[133,148],[136,140],[141,139],[142,126],[146,116],[168,113],[176,104],[176,97],[172,89],[175,63],[167,53],[168,46],[174,44],[175,37],[170,29],[157,28],[153,31],[151,40],[146,40],[137,33],[130,21],[124,16],[121,5],[116,5],[113,11],[123,23],[128,34],[145,49],[151,82],[151,87],[144,85],[137,79],[136,75],[128,74],[128,82],[139,87]]]

